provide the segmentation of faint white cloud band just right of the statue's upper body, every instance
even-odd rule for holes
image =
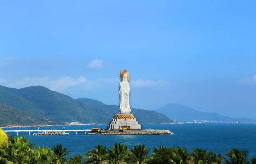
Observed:
[[[131,86],[133,87],[169,87],[170,82],[166,80],[149,80],[149,79],[137,79],[132,80]]]

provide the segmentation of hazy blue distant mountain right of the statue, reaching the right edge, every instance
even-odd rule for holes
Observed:
[[[182,104],[171,103],[164,107],[160,107],[155,111],[167,115],[175,121],[193,121],[193,120],[209,120],[217,122],[243,122],[256,123],[256,120],[248,118],[230,118],[217,113],[201,112]]]

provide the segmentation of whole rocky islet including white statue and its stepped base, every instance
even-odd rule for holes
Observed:
[[[172,134],[171,131],[165,129],[141,129],[134,115],[132,114],[129,103],[129,72],[121,70],[120,73],[120,106],[119,112],[114,115],[107,126],[107,129],[92,128],[89,134],[93,135],[145,135],[145,134]]]

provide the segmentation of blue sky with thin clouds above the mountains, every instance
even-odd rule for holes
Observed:
[[[256,119],[256,1],[0,1],[0,85]]]

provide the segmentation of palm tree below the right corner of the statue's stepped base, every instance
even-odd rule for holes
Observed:
[[[133,149],[130,148],[130,151],[135,157],[133,161],[142,164],[147,159],[150,150],[144,144],[142,146],[138,144]]]

